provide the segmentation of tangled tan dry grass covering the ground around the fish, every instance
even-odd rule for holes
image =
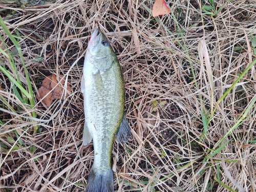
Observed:
[[[0,191],[84,190],[93,145],[81,141],[80,78],[96,27],[120,60],[132,129],[130,142],[114,144],[115,191],[255,191],[254,66],[223,95],[254,59],[256,1],[215,1],[208,12],[216,15],[201,14],[210,2],[167,1],[171,13],[159,19],[148,12],[153,1],[0,4],[34,96],[50,74],[65,75],[73,90],[49,108],[36,100],[31,109],[0,72]],[[15,51],[0,32],[8,45],[0,42],[0,48]],[[27,88],[20,58],[13,58]]]

